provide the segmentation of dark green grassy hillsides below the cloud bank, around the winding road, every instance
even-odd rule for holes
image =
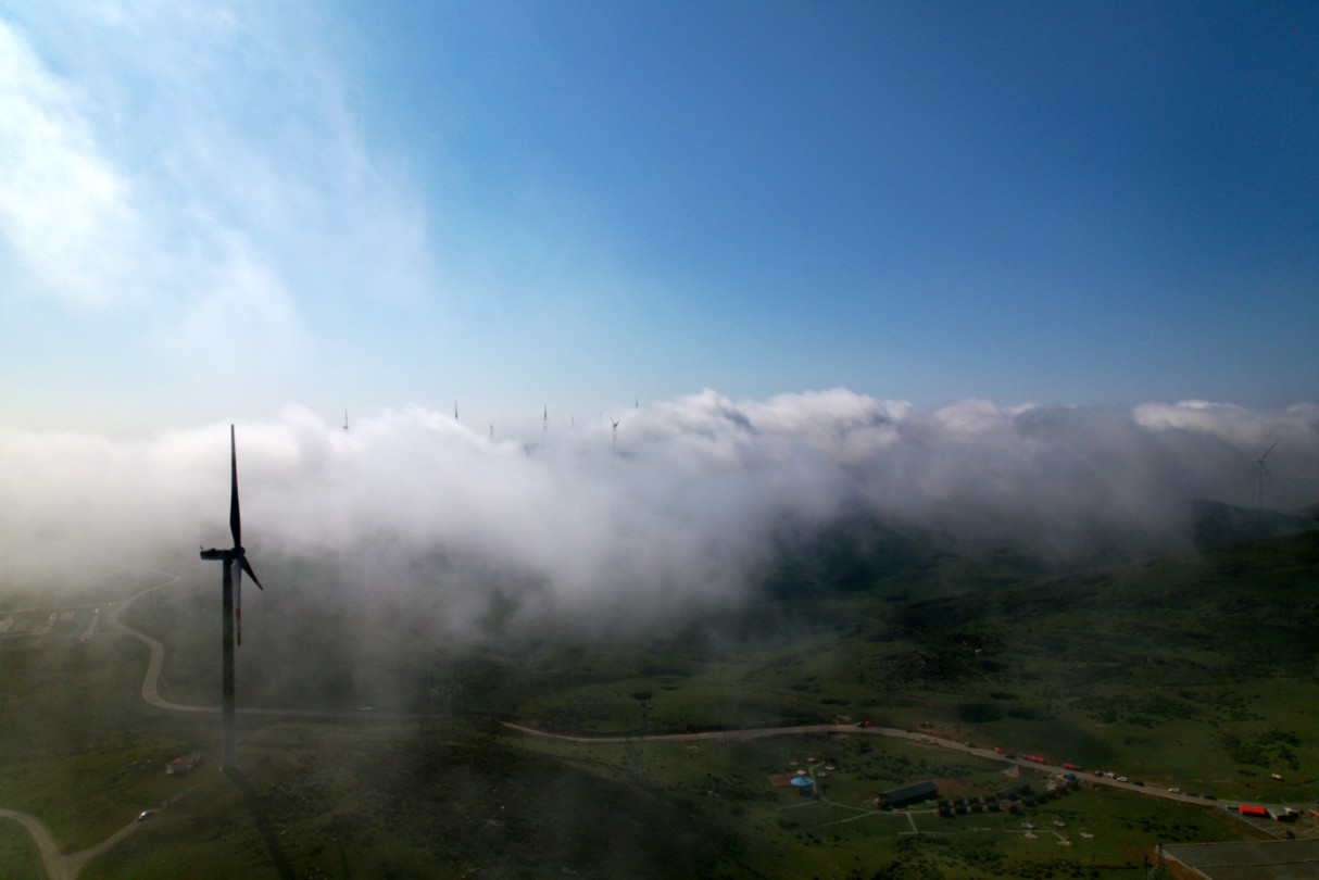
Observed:
[[[827,559],[816,561],[802,588],[781,581],[773,600],[748,613],[649,640],[446,653],[445,674],[463,683],[468,710],[565,730],[774,726],[842,712],[1224,800],[1310,800],[1319,777],[1316,546],[1311,532],[1194,559],[1053,573],[1010,554],[911,551],[864,587],[855,558],[840,583]],[[169,644],[173,699],[214,702],[211,599],[161,591],[133,610],[135,625]],[[332,616],[290,620],[280,640],[288,656],[332,641],[340,625]],[[393,693],[415,705],[434,653],[394,641],[404,645],[398,657],[359,649],[351,662],[319,664],[310,681],[270,677],[259,697],[306,705],[336,694],[335,705],[351,707],[376,698],[371,682],[414,681],[422,683],[413,691]],[[900,836],[910,830],[905,817],[859,813],[874,792],[927,777],[947,790],[991,792],[1001,768],[863,736],[572,748],[466,722],[251,722],[244,797],[214,767],[182,781],[164,776],[173,755],[215,755],[218,731],[214,720],[141,703],[146,652],[136,641],[103,633],[86,645],[4,652],[4,806],[40,815],[80,850],[137,810],[182,796],[88,877],[280,876],[281,865],[298,876],[381,877],[476,868],[483,876],[1120,876],[1138,862],[1133,847],[1249,834],[1220,813],[1083,790],[1046,817],[1095,834],[1072,835],[1070,848],[1057,838],[1026,840],[1022,819],[1001,815],[917,814],[922,831],[954,834]],[[247,664],[266,660],[248,652]],[[344,662],[352,686],[336,690]],[[826,794],[843,806],[769,786],[768,774],[809,752],[836,761]],[[831,825],[852,815],[861,818]]]

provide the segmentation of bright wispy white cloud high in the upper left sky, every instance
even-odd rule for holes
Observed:
[[[0,296],[82,322],[128,310],[144,334],[125,344],[190,369],[219,315],[241,315],[232,354],[289,360],[327,307],[433,289],[421,202],[367,149],[315,11],[16,18],[0,18]]]

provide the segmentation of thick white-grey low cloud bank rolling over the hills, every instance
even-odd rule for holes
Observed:
[[[369,592],[427,558],[477,561],[570,613],[736,600],[785,522],[809,530],[859,511],[1051,554],[1100,534],[1184,544],[1187,500],[1257,504],[1256,459],[1274,442],[1265,505],[1319,501],[1311,404],[921,410],[845,389],[764,401],[707,391],[613,418],[616,451],[608,414],[526,442],[422,408],[348,431],[301,408],[241,424],[245,544],[259,571],[319,558]],[[228,546],[226,425],[131,442],[4,431],[0,455],[0,588],[142,566],[191,575],[199,544]],[[452,592],[460,623],[492,583],[429,588]]]

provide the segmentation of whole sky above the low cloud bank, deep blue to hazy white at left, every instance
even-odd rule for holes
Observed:
[[[0,427],[1316,400],[1314,4],[0,4]]]

